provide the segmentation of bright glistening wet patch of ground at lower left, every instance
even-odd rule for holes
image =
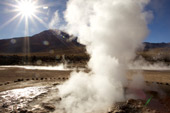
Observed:
[[[3,112],[12,112],[24,108],[35,97],[42,93],[48,92],[49,88],[45,86],[26,87],[0,92],[0,103]]]

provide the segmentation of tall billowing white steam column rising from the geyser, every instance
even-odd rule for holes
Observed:
[[[123,101],[127,63],[148,33],[149,0],[69,0],[67,31],[78,35],[90,54],[89,73],[72,72],[59,86],[67,113],[106,112]],[[61,111],[60,111],[61,112]],[[64,112],[64,111],[63,111]]]

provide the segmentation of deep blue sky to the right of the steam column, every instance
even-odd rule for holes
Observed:
[[[154,18],[148,27],[150,34],[145,41],[170,42],[170,0],[151,0],[146,8]]]

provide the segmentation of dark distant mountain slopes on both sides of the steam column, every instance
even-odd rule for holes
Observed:
[[[170,43],[144,42],[143,50],[138,53],[146,59],[170,58]],[[46,30],[30,37],[0,40],[0,55],[26,55],[28,53],[39,56],[85,55],[85,46],[79,44],[77,38],[60,30]]]

